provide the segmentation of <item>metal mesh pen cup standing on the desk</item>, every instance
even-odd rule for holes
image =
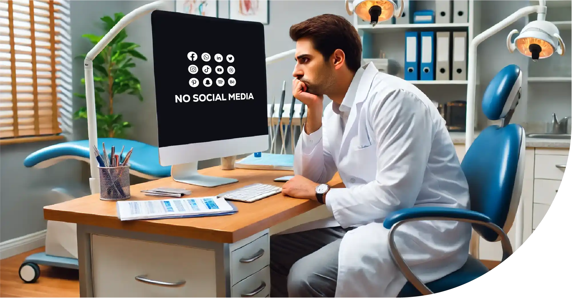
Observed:
[[[100,199],[104,201],[122,201],[131,197],[129,166],[110,166],[100,169]]]

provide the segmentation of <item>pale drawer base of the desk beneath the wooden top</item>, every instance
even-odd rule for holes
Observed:
[[[236,243],[80,225],[81,297],[252,297],[270,293],[268,229]]]

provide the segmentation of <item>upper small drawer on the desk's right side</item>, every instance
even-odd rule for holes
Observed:
[[[231,284],[247,278],[270,264],[268,234],[231,252]]]

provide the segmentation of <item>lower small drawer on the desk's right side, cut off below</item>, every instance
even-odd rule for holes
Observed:
[[[264,298],[268,295],[270,295],[269,266],[233,285],[231,289],[231,298]]]

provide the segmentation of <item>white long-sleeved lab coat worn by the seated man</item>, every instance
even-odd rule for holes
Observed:
[[[321,221],[322,227],[357,227],[340,244],[335,297],[394,298],[406,279],[391,260],[384,218],[417,206],[468,208],[468,186],[432,102],[373,63],[359,74],[342,105],[325,108],[322,127],[303,133],[295,173],[325,183],[337,171],[346,186],[329,191],[333,218]],[[337,112],[345,102],[347,118]],[[318,228],[316,222],[307,227]],[[402,225],[395,238],[406,263],[427,283],[462,267],[470,237],[470,224],[417,221]]]

